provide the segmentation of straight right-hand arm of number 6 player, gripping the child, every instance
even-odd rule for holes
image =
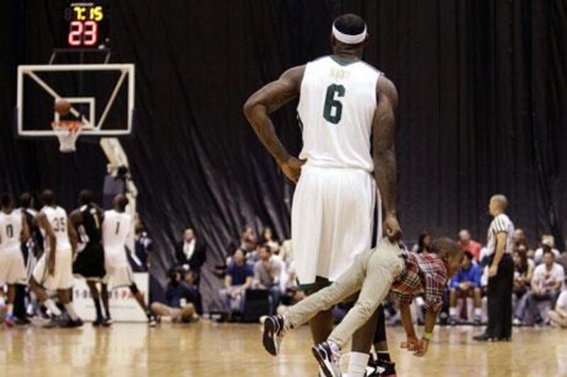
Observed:
[[[398,91],[392,81],[381,76],[376,85],[378,105],[374,112],[373,149],[374,178],[378,184],[383,207],[386,211],[384,231],[391,241],[402,236],[396,214],[396,164],[395,164],[395,109],[398,107]]]

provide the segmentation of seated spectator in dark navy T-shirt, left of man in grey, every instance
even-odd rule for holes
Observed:
[[[237,249],[232,259],[226,269],[225,287],[219,291],[228,320],[232,319],[233,312],[244,313],[246,290],[252,286],[254,275],[244,250]]]

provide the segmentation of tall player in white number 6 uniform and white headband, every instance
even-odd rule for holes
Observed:
[[[382,204],[384,233],[391,240],[401,236],[395,207],[398,93],[361,60],[366,30],[359,16],[340,16],[332,25],[332,55],[284,72],[244,108],[283,173],[298,184],[291,214],[293,255],[298,280],[311,292],[337,279],[371,248],[376,199],[378,234]],[[303,150],[295,158],[281,144],[269,114],[298,96]],[[378,312],[354,335],[349,376],[364,376],[377,317]],[[330,311],[319,313],[310,326],[315,343],[325,340],[332,330]]]

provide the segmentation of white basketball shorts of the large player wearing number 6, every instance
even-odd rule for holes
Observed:
[[[369,250],[381,209],[374,176],[364,170],[303,166],[293,195],[291,238],[296,276],[303,288],[315,277],[337,279],[354,257]],[[376,225],[375,225],[376,220]]]

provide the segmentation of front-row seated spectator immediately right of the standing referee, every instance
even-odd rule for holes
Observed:
[[[522,300],[530,289],[534,277],[535,263],[527,258],[526,248],[519,245],[512,253],[514,259],[514,285],[512,287],[512,307],[514,308],[514,324],[522,323],[525,301]]]

